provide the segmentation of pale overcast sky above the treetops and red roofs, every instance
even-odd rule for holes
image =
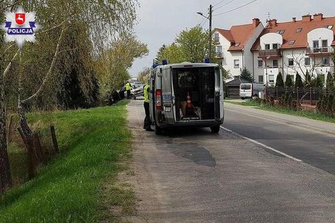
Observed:
[[[143,59],[138,59],[129,70],[133,77],[144,67],[149,67],[156,52],[162,44],[170,44],[175,36],[183,29],[198,24],[202,17],[197,11],[207,13],[210,4],[215,5],[222,0],[140,0],[138,9],[139,23],[135,27],[138,38],[148,44],[150,53]],[[218,8],[232,0],[225,0]],[[252,0],[233,0],[230,4],[217,9],[213,15],[235,9]],[[265,25],[267,12],[271,18],[278,21],[290,21],[292,17],[301,19],[302,15],[323,13],[325,17],[335,16],[334,0],[258,0],[251,5],[234,12],[213,17],[213,27],[229,29],[232,25],[247,24],[252,18],[259,18]],[[335,25],[335,24],[334,24]],[[208,27],[208,22],[204,24]]]

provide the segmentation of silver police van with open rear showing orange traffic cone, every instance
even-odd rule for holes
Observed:
[[[167,64],[150,75],[150,118],[156,134],[179,126],[210,127],[224,122],[224,89],[217,64]]]

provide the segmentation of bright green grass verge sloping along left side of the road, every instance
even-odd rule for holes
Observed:
[[[130,157],[126,103],[29,114],[31,123],[55,125],[61,154],[36,178],[0,197],[0,222],[100,222],[108,205],[132,211],[132,188],[115,186],[126,169],[120,161]]]

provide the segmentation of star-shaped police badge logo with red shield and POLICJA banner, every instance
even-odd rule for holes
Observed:
[[[25,41],[36,42],[35,33],[41,26],[35,22],[35,12],[25,13],[19,6],[16,13],[5,12],[5,24],[0,28],[6,32],[5,42],[15,41],[19,48],[23,47]]]

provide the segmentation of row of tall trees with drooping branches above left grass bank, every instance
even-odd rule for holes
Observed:
[[[0,33],[0,193],[11,184],[6,112],[18,113],[31,141],[27,112],[102,105],[130,78],[133,61],[148,53],[133,32],[137,0],[3,0],[1,23],[19,5],[35,11],[43,28],[22,49]]]

